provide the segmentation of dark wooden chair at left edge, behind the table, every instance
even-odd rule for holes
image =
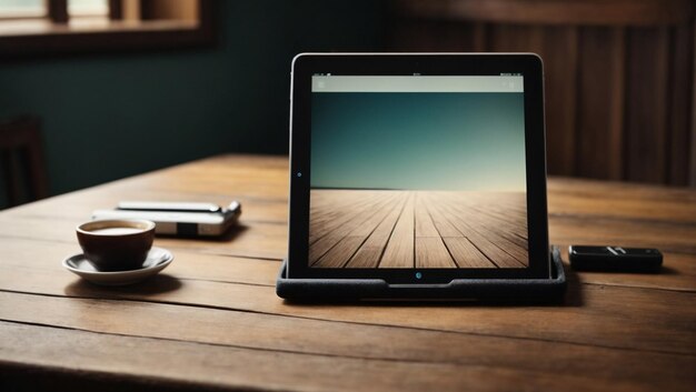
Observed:
[[[40,122],[20,117],[0,123],[0,158],[9,205],[48,195]]]

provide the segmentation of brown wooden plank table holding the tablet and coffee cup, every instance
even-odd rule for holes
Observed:
[[[563,306],[298,305],[275,293],[287,159],[225,155],[0,213],[0,390],[694,391],[696,191],[550,179],[553,243],[656,247],[659,274],[575,273]],[[62,269],[119,200],[243,205],[222,241],[106,289]],[[564,254],[567,257],[567,254]]]

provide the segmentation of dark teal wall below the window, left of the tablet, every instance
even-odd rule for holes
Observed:
[[[292,57],[379,50],[382,16],[370,0],[220,1],[212,48],[0,62],[0,118],[41,117],[52,194],[221,152],[287,153]]]

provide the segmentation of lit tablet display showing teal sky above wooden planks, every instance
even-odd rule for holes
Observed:
[[[311,269],[529,265],[524,77],[311,77]]]

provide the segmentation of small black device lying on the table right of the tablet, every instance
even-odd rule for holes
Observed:
[[[578,271],[658,272],[663,254],[653,248],[568,247],[570,267]]]

